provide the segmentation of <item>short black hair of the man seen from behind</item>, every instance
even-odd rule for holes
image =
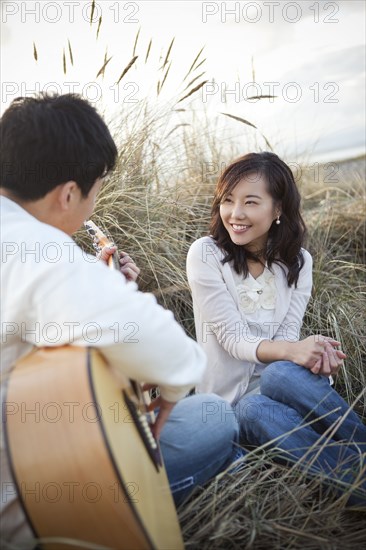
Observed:
[[[70,180],[86,197],[117,157],[107,125],[76,94],[15,99],[0,120],[0,139],[0,186],[22,200]]]

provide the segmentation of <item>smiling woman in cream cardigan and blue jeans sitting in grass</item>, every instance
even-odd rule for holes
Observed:
[[[299,339],[312,259],[302,248],[306,228],[290,168],[268,152],[228,166],[210,233],[187,257],[197,340],[208,356],[198,391],[233,405],[243,444],[271,441],[282,458],[355,484],[366,428],[329,383],[345,354],[332,338]]]

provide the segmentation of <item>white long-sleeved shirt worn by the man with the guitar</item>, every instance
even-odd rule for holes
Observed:
[[[0,197],[1,380],[33,346],[101,349],[115,372],[160,386],[177,401],[200,381],[206,358],[170,311],[55,227]],[[6,384],[2,383],[3,401]],[[3,425],[1,423],[1,425]],[[31,536],[1,437],[2,535]],[[25,548],[19,543],[19,548]]]

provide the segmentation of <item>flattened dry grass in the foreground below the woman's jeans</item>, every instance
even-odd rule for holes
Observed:
[[[361,548],[365,516],[299,469],[253,458],[224,473],[180,510],[187,549]]]

